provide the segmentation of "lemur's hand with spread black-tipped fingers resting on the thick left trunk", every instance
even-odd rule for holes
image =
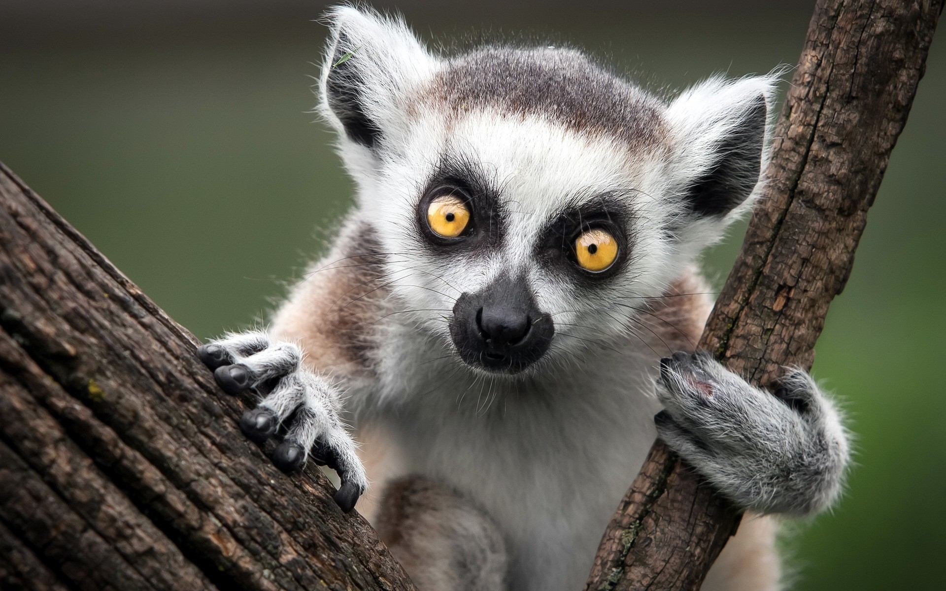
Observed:
[[[243,414],[240,429],[264,443],[287,425],[286,436],[272,452],[272,463],[284,472],[300,470],[311,459],[335,470],[342,486],[335,501],[345,513],[368,488],[356,443],[340,418],[338,392],[322,377],[302,367],[302,351],[272,341],[264,332],[246,332],[214,340],[197,350],[228,394],[254,391],[263,396]]]

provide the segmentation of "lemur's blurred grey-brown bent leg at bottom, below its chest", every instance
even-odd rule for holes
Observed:
[[[499,527],[445,486],[416,476],[395,480],[382,497],[376,527],[420,591],[506,589]]]

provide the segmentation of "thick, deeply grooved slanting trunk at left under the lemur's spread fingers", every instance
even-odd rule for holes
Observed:
[[[198,344],[0,165],[0,586],[413,589]]]

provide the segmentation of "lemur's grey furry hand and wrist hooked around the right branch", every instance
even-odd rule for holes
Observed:
[[[657,433],[724,495],[762,513],[817,513],[838,495],[849,459],[832,403],[792,370],[773,395],[706,352],[660,360]]]

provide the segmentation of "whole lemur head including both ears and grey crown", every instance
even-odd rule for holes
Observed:
[[[772,76],[667,103],[572,49],[445,58],[400,21],[329,18],[322,109],[387,283],[474,368],[517,374],[633,334],[759,182]]]

